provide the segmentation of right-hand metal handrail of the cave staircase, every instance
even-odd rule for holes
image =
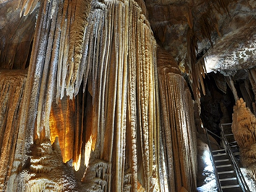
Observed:
[[[234,165],[234,170],[236,171],[236,176],[238,178],[238,181],[239,181],[239,184],[240,184],[240,186],[242,188],[242,191],[249,192],[249,187],[247,186],[247,183],[246,183],[246,181],[244,179],[244,175],[242,174],[239,165],[237,165],[237,162],[236,162],[236,159],[235,159],[234,154],[232,152],[232,149],[230,147],[229,141],[228,141],[228,139],[226,139],[226,136],[224,134],[223,125],[224,126],[231,125],[231,123],[221,124],[221,132],[222,132],[222,136],[223,136],[223,141],[224,141],[226,150],[229,153],[229,157],[231,157],[231,161],[232,161],[232,163]]]

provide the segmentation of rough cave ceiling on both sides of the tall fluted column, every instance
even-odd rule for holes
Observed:
[[[20,17],[26,13],[20,14],[19,4],[19,0],[0,1],[0,59],[5,69],[26,68],[33,40],[37,6]],[[208,72],[234,75],[255,66],[254,0],[146,0],[145,5],[155,39],[183,71],[189,72],[185,69],[191,63],[189,49],[196,50],[194,63],[205,58]]]

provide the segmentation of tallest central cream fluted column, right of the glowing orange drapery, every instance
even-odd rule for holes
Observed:
[[[92,102],[82,181],[91,190],[137,191],[140,183],[149,191],[159,186],[153,33],[135,1],[93,6],[80,66]]]

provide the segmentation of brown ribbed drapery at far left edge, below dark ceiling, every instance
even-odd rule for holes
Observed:
[[[20,126],[27,70],[0,70],[0,188],[7,190]],[[12,117],[12,118],[11,118]]]

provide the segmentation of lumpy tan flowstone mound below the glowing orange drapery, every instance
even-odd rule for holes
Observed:
[[[52,145],[51,141],[33,144],[28,156],[17,175],[19,182],[9,184],[7,191],[76,191],[72,167],[62,162],[58,138]]]

